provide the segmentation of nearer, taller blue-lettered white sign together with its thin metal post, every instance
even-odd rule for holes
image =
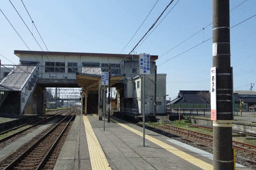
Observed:
[[[143,146],[145,146],[145,74],[150,74],[150,55],[140,54],[140,74],[143,74]]]

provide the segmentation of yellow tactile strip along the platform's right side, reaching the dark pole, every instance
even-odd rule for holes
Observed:
[[[122,127],[125,127],[128,130],[131,130],[132,132],[136,133],[137,135],[143,136],[142,132],[140,132],[140,131],[138,131],[138,130],[130,127],[130,126],[124,125],[123,123],[118,122],[118,121],[116,121],[114,119],[111,119],[111,121],[119,124]],[[189,155],[189,154],[187,154],[187,153],[185,153],[185,152],[183,152],[181,150],[178,150],[177,148],[172,147],[169,144],[166,144],[166,143],[164,143],[164,142],[162,142],[162,141],[160,141],[158,139],[155,139],[155,138],[153,138],[153,137],[151,137],[149,135],[145,135],[145,139],[148,139],[149,141],[159,145],[160,147],[163,147],[164,149],[168,150],[169,152],[171,152],[171,153],[175,154],[176,156],[178,156],[178,157],[180,157],[180,158],[190,162],[191,164],[194,164],[197,167],[200,167],[203,170],[213,170],[213,166],[211,164],[209,164],[209,163],[207,163],[205,161],[202,161],[200,159],[197,159],[194,156],[191,156],[191,155]]]

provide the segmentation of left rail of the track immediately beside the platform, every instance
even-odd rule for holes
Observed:
[[[74,111],[71,111],[67,116],[65,116],[60,122],[58,122],[57,125],[52,127],[44,136],[42,136],[38,141],[36,141],[31,147],[29,147],[25,152],[23,152],[20,156],[18,156],[14,161],[12,161],[7,167],[4,168],[4,170],[12,170],[13,167],[18,164],[19,161],[21,161],[29,152],[31,152],[36,145],[38,145],[41,141],[43,141],[50,133],[52,133],[53,130],[55,130],[58,125],[60,125],[70,114],[72,114]]]

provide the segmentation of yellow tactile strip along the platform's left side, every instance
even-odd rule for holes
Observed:
[[[92,170],[111,170],[108,160],[99,144],[99,141],[93,132],[93,128],[87,116],[84,116],[84,127],[86,132],[87,144],[90,154]]]

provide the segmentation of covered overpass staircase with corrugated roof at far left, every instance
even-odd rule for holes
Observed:
[[[38,66],[17,65],[0,82],[0,116],[22,116],[38,82]]]

